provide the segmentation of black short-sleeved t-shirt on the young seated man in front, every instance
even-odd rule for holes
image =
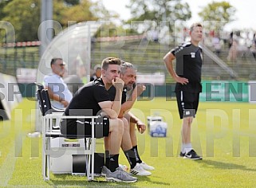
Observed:
[[[93,80],[80,88],[73,99],[70,101],[69,106],[65,109],[66,116],[96,116],[99,115],[101,108],[98,103],[103,101],[110,101],[108,92],[104,87],[101,78]],[[79,112],[77,110],[85,110]]]

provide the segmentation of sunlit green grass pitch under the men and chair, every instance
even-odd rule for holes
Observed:
[[[138,135],[141,158],[155,166],[152,176],[132,184],[87,182],[85,177],[41,176],[41,138],[34,131],[35,102],[24,99],[10,121],[0,122],[0,187],[255,187],[256,106],[246,103],[200,103],[192,127],[192,143],[202,161],[177,157],[181,120],[175,101],[138,101],[132,112],[146,121],[160,115],[168,124],[167,138]],[[97,151],[103,151],[99,140]],[[120,152],[120,163],[128,165]]]

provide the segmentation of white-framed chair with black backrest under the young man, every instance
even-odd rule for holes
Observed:
[[[49,100],[47,89],[44,89],[41,84],[35,83],[38,86],[36,93],[39,108],[42,115],[42,175],[44,180],[49,180],[50,174],[50,159],[51,155],[63,154],[68,151],[73,155],[85,155],[86,174],[89,181],[94,179],[94,153],[96,148],[94,126],[92,126],[92,136],[89,138],[82,135],[63,135],[61,131],[53,130],[53,119],[55,122],[61,122],[61,119],[92,119],[92,124],[96,121],[98,116],[63,116],[61,110],[54,109]],[[51,138],[69,138],[69,139],[85,139],[84,147],[52,147]],[[91,163],[92,162],[92,163]],[[92,167],[91,167],[92,166]]]

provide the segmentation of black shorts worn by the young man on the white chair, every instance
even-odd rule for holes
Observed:
[[[91,137],[92,136],[92,119],[62,119],[61,120],[61,134],[72,138],[77,137]],[[100,117],[94,122],[94,135],[96,138],[103,138],[109,134],[109,119],[107,117]]]

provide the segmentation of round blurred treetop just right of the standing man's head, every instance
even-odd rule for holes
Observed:
[[[211,2],[199,12],[204,28],[208,31],[219,32],[223,27],[234,21],[236,9],[229,2]]]

